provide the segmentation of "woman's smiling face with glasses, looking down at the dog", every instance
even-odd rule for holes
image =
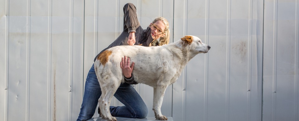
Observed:
[[[151,35],[154,40],[164,36],[165,25],[162,21],[158,20],[154,24],[150,23]]]

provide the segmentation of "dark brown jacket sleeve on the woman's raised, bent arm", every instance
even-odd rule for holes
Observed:
[[[124,27],[128,28],[128,33],[136,32],[140,24],[137,19],[136,7],[132,3],[124,6]]]

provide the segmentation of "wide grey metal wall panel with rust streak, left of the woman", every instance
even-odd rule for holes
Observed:
[[[1,89],[9,87],[1,91],[1,120],[75,120],[83,95],[84,1],[1,2]]]

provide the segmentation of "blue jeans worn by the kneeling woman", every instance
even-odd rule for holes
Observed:
[[[77,121],[84,121],[93,117],[101,94],[101,87],[92,66],[86,78],[83,101]],[[131,84],[122,83],[114,96],[125,106],[110,106],[112,116],[127,118],[145,118],[147,116],[148,109]]]

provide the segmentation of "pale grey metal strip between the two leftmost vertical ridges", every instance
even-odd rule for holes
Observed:
[[[30,9],[29,9],[30,10]],[[9,2],[8,23],[8,119],[28,120],[30,11],[27,1]],[[29,36],[28,36],[29,35]],[[14,114],[19,114],[16,116]]]

